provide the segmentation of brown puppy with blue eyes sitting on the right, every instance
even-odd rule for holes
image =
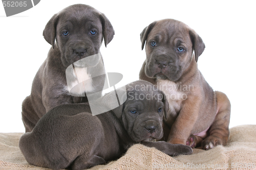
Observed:
[[[225,145],[230,102],[224,93],[212,90],[198,69],[205,48],[201,37],[174,19],[155,21],[140,36],[146,60],[139,77],[157,84],[169,102],[164,140],[205,150]]]

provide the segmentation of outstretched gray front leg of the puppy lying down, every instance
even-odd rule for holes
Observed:
[[[141,144],[147,147],[154,147],[169,156],[189,155],[193,153],[193,150],[189,146],[183,144],[171,144],[165,141],[141,142]]]

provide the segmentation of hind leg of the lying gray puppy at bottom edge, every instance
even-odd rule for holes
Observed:
[[[71,165],[72,170],[88,169],[90,167],[106,164],[105,160],[97,155],[93,155],[90,159],[88,155],[77,157]]]

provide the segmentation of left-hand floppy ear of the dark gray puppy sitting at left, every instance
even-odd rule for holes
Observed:
[[[54,42],[55,42],[55,37],[56,37],[56,27],[58,23],[58,15],[55,14],[52,16],[52,18],[48,21],[44,32],[42,35],[44,36],[45,40],[52,45],[54,48]]]

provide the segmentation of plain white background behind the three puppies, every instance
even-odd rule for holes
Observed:
[[[29,1],[29,0],[28,0]],[[138,80],[145,59],[140,33],[151,22],[174,18],[193,28],[206,48],[198,65],[214,90],[231,102],[230,128],[255,124],[256,10],[254,1],[60,1],[41,0],[11,17],[0,5],[0,132],[25,132],[22,102],[51,47],[42,31],[53,14],[87,4],[111,21],[115,36],[101,47],[107,72],[120,72],[119,86]]]

